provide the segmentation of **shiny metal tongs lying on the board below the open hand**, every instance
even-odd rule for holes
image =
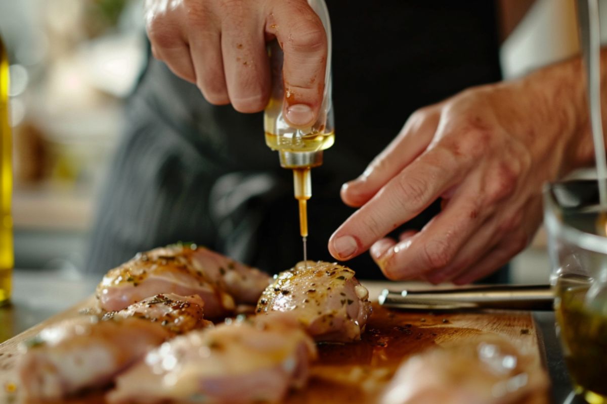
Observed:
[[[378,297],[386,307],[413,310],[552,310],[550,285],[494,285],[390,291]]]

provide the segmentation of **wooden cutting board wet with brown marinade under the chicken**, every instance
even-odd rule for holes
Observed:
[[[90,298],[0,344],[0,403],[20,403],[16,375],[19,343],[44,326],[92,306]],[[319,345],[319,360],[311,369],[310,383],[288,396],[287,403],[373,403],[403,359],[433,346],[470,337],[498,334],[521,352],[534,357],[532,368],[546,372],[541,360],[537,330],[531,314],[491,311],[485,313],[422,313],[391,311],[374,303],[373,314],[361,342]],[[70,399],[61,404],[104,403],[103,391]],[[548,393],[538,391],[524,404],[548,403]]]

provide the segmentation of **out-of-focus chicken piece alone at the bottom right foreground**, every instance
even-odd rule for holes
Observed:
[[[473,339],[405,360],[381,403],[544,403],[547,387],[533,356],[501,337]]]

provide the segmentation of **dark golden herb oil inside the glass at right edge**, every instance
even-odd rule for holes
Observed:
[[[575,275],[557,280],[555,314],[569,374],[591,404],[607,403],[607,314],[586,305],[590,282]]]

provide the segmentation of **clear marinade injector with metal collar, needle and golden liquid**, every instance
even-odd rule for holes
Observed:
[[[335,141],[333,108],[331,101],[331,23],[324,0],[308,0],[319,16],[327,33],[327,67],[325,88],[318,118],[307,128],[291,127],[283,114],[285,88],[282,76],[283,53],[277,41],[268,45],[272,71],[272,94],[265,109],[263,127],[265,141],[279,153],[280,166],[293,170],[295,199],[299,202],[299,230],[304,243],[304,261],[307,261],[308,237],[307,201],[312,196],[311,168],[322,164],[323,151]]]

